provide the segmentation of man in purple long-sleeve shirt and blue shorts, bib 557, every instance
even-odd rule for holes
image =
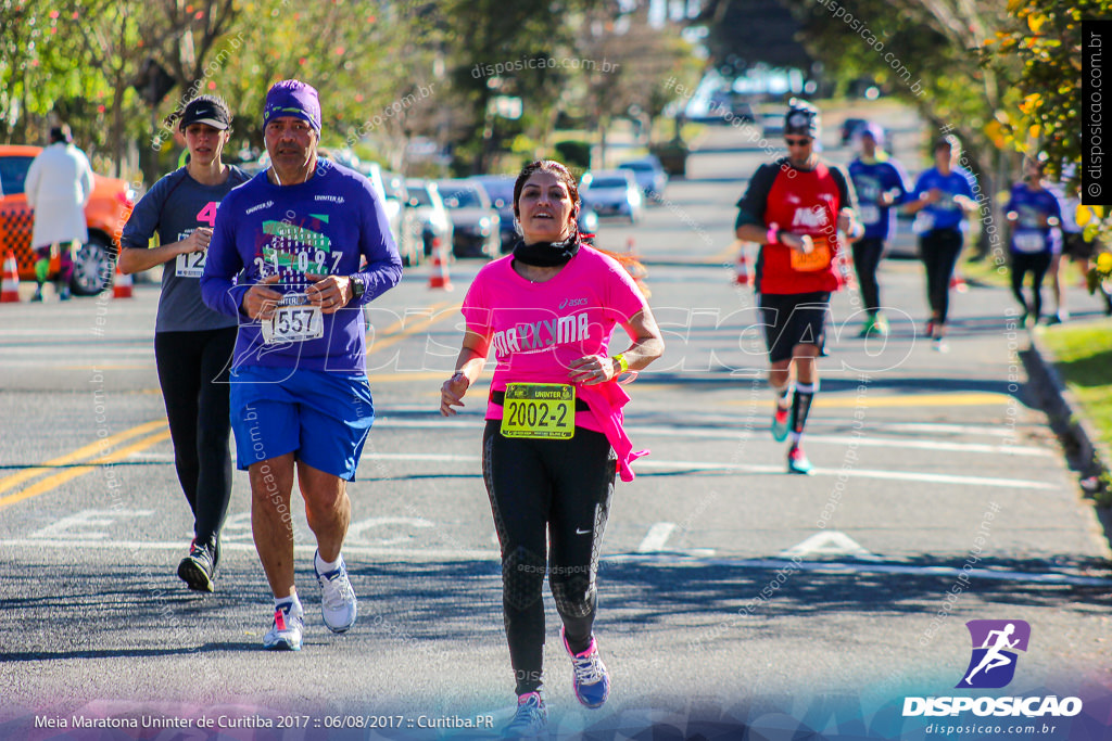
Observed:
[[[201,297],[237,317],[231,424],[251,481],[251,531],[275,597],[262,645],[299,650],[294,584],[295,471],[317,537],[325,624],[341,633],[357,604],[340,554],[355,479],[375,419],[363,304],[401,277],[383,204],[361,174],[317,158],[317,91],[282,80],[267,93],[271,167],[224,198]]]

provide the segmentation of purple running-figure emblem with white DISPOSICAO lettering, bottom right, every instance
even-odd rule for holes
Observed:
[[[1015,677],[1019,651],[1027,650],[1031,625],[1023,620],[970,620],[965,623],[973,643],[969,667],[956,689],[992,690],[1007,687]],[[941,697],[904,698],[903,715],[974,715],[996,718],[1072,717],[1080,713],[1080,698],[1048,697]]]

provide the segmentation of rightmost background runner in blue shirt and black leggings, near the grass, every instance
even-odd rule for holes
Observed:
[[[1058,227],[1062,222],[1062,202],[1046,189],[1043,182],[1045,159],[1027,158],[1023,162],[1023,182],[1012,186],[1012,192],[1004,207],[1011,224],[1007,240],[1012,258],[1012,293],[1020,302],[1023,313],[1020,326],[1027,319],[1037,324],[1042,317],[1042,282],[1054,254],[1061,252],[1062,233]],[[1034,300],[1027,303],[1023,294],[1023,281],[1031,273],[1031,289]]]

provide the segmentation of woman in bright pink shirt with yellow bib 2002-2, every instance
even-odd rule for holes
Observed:
[[[664,351],[645,297],[617,261],[584,242],[578,212],[579,191],[563,164],[544,160],[522,170],[514,214],[523,239],[468,289],[456,372],[440,389],[440,413],[455,414],[494,349],[483,478],[502,544],[518,695],[508,737],[535,735],[547,721],[545,573],[572,658],[573,690],[588,708],[606,701],[609,678],[592,632],[599,543],[615,474],[631,481],[629,463],[644,454],[622,429],[629,398],[617,379]],[[612,356],[619,324],[633,343]]]

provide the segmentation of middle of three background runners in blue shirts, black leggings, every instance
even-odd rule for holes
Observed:
[[[973,173],[959,167],[961,142],[947,134],[934,142],[934,167],[919,177],[912,193],[915,200],[906,204],[916,213],[920,258],[926,268],[926,298],[931,319],[926,334],[934,349],[945,352],[946,317],[950,312],[950,281],[957,256],[965,244],[965,214],[979,210],[973,200]]]

